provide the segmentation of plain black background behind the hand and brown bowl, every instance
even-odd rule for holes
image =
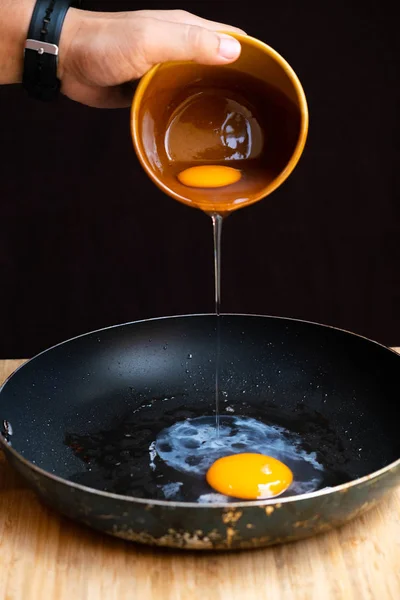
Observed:
[[[84,2],[185,8],[278,50],[310,109],[289,180],[229,217],[223,311],[323,322],[400,344],[399,35],[388,2]],[[0,357],[146,317],[213,310],[209,217],[163,194],[129,109],[0,88]]]

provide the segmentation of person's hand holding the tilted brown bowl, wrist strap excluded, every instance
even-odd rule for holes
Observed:
[[[235,61],[240,44],[218,32],[244,33],[182,10],[96,13],[70,9],[60,40],[61,91],[97,108],[129,106],[131,82],[153,65],[194,60]]]

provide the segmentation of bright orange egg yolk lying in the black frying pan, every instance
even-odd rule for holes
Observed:
[[[219,458],[208,469],[206,478],[220,494],[259,500],[282,494],[292,483],[293,474],[276,458],[246,452]]]

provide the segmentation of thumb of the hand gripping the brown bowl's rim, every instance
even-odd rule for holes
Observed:
[[[239,58],[240,42],[230,35],[196,25],[156,19],[148,21],[142,53],[149,66],[170,60],[193,60],[205,65],[220,65]]]

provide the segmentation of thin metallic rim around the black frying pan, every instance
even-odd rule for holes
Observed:
[[[150,317],[148,319],[140,319],[137,321],[128,321],[126,323],[119,323],[119,324],[115,324],[115,325],[110,325],[108,327],[102,327],[100,329],[95,329],[95,330],[88,331],[86,333],[82,333],[77,336],[68,338],[67,340],[59,342],[58,344],[54,344],[53,346],[46,348],[45,350],[42,350],[41,352],[39,352],[32,358],[25,361],[17,369],[15,369],[13,371],[13,373],[11,373],[6,378],[6,380],[3,382],[3,384],[0,386],[0,394],[2,393],[2,391],[4,390],[6,385],[10,382],[10,380],[14,377],[14,375],[20,369],[25,367],[28,363],[35,361],[42,354],[50,352],[51,350],[53,350],[59,346],[63,346],[64,344],[68,344],[69,342],[72,342],[79,338],[88,337],[90,335],[95,335],[95,334],[98,334],[100,332],[104,332],[104,331],[107,331],[110,329],[117,329],[120,327],[126,327],[129,325],[135,325],[135,324],[139,324],[139,323],[172,320],[172,319],[210,317],[210,316],[215,317],[216,314],[215,313],[188,313],[188,314],[181,314],[181,315]],[[333,325],[326,325],[326,324],[318,323],[315,321],[307,321],[305,319],[296,319],[294,317],[261,315],[261,314],[256,314],[256,313],[254,313],[254,314],[253,313],[221,313],[220,316],[224,316],[224,317],[255,317],[255,318],[263,318],[263,319],[282,320],[282,321],[290,321],[290,322],[295,322],[295,323],[303,323],[303,324],[307,324],[307,325],[315,325],[317,327],[323,327],[326,329],[333,329],[334,331],[339,331],[339,332],[348,334],[353,337],[358,337],[358,338],[365,340],[366,342],[375,344],[376,346],[379,346],[383,350],[386,350],[386,351],[390,352],[391,354],[398,356],[399,360],[400,360],[399,353],[396,352],[395,350],[393,350],[392,348],[385,346],[384,344],[381,344],[380,342],[377,342],[375,340],[367,338],[366,336],[363,336],[361,334],[354,333],[352,331],[348,331],[348,330],[340,328],[340,327],[335,327]],[[59,475],[50,473],[49,471],[46,471],[45,469],[35,465],[30,460],[26,459],[22,454],[17,452],[17,450],[15,450],[7,442],[6,438],[0,432],[0,449],[2,446],[3,446],[6,454],[7,454],[7,452],[9,452],[18,462],[22,463],[29,470],[34,471],[38,475],[45,477],[47,479],[50,479],[50,480],[52,480],[56,483],[59,483],[63,486],[67,486],[69,488],[73,488],[73,489],[79,490],[81,492],[93,494],[95,496],[108,498],[110,500],[118,500],[118,501],[122,501],[122,502],[128,502],[128,503],[139,504],[139,505],[141,504],[141,505],[147,506],[147,507],[148,506],[160,506],[160,507],[164,507],[166,509],[196,508],[196,509],[225,509],[225,510],[229,509],[229,510],[232,510],[232,509],[245,509],[245,508],[252,508],[252,507],[261,507],[262,508],[264,506],[276,506],[276,505],[291,504],[293,502],[306,501],[306,500],[318,498],[321,496],[323,496],[323,497],[329,496],[330,494],[333,494],[333,493],[344,493],[344,492],[348,491],[350,488],[360,487],[364,483],[367,483],[368,481],[372,481],[374,479],[379,478],[381,475],[384,475],[386,472],[390,472],[392,470],[394,471],[397,468],[400,468],[400,457],[399,457],[395,461],[389,463],[388,465],[386,465],[385,467],[382,467],[381,469],[378,469],[377,471],[373,471],[372,473],[363,475],[362,477],[353,479],[352,481],[343,483],[341,485],[334,486],[332,488],[321,489],[321,490],[317,490],[314,492],[309,492],[307,494],[299,494],[297,496],[287,496],[285,498],[280,498],[279,496],[275,496],[274,498],[263,499],[263,500],[249,500],[249,501],[238,501],[238,502],[229,502],[229,503],[227,503],[227,502],[210,502],[210,503],[203,504],[203,503],[198,503],[198,502],[179,502],[179,501],[170,501],[170,500],[157,500],[157,499],[151,499],[151,498],[136,498],[135,496],[125,496],[123,494],[114,494],[112,492],[106,492],[104,490],[97,490],[96,488],[91,488],[91,487],[82,485],[80,483],[72,482],[68,479],[65,479],[64,477],[60,477]]]

